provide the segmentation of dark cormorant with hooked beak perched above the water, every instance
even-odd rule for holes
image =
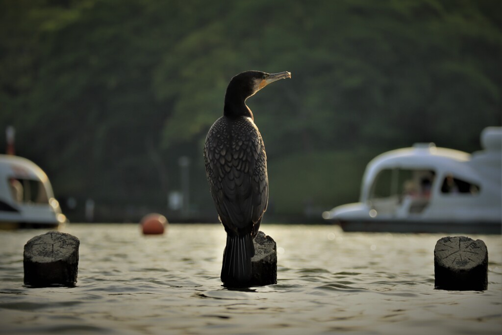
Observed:
[[[221,281],[227,287],[250,285],[253,239],[269,201],[265,146],[245,101],[267,84],[283,78],[291,78],[291,73],[245,71],[234,76],[226,89],[223,116],[207,133],[206,175],[227,233],[221,268]]]

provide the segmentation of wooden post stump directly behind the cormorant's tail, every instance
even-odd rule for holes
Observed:
[[[258,232],[254,245],[255,256],[251,259],[253,286],[277,284],[276,242],[263,232]]]

